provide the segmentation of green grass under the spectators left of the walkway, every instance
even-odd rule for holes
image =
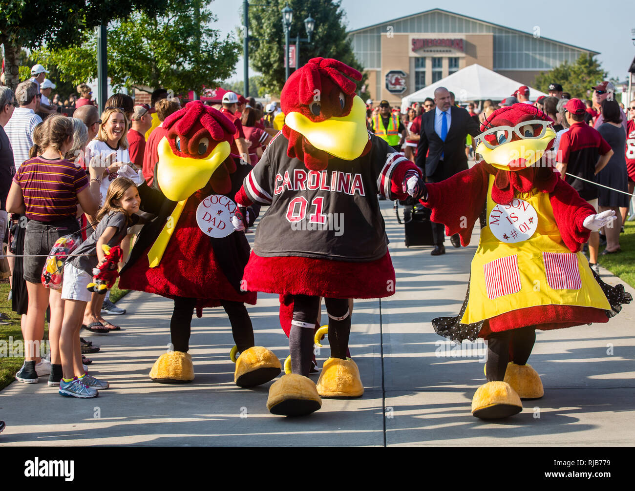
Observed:
[[[120,290],[117,285],[119,280],[110,290],[110,300],[116,302],[122,298],[129,290]],[[17,341],[22,341],[22,331],[20,330],[20,316],[11,310],[11,301],[7,300],[9,294],[9,279],[0,280],[0,312],[6,313],[10,317],[10,324],[0,325],[0,390],[3,390],[11,382],[15,381],[15,373],[20,370],[24,358],[13,357],[9,352],[10,337],[13,339],[13,348]],[[44,339],[48,339],[48,323],[44,323]],[[4,341],[4,343],[3,343]],[[6,343],[6,346],[5,346]],[[5,351],[6,350],[6,353]]]

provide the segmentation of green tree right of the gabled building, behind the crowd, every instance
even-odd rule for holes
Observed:
[[[542,92],[549,92],[549,84],[560,84],[572,97],[589,99],[592,86],[606,80],[607,72],[602,70],[595,56],[580,55],[575,63],[564,62],[558,67],[537,75],[533,86]]]

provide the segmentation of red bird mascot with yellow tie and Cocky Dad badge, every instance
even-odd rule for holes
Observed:
[[[231,198],[251,166],[230,155],[236,128],[201,101],[171,114],[163,128],[167,134],[159,142],[155,172],[160,191],[145,183],[139,187],[143,211],[157,218],[140,232],[119,281],[122,288],[174,299],[173,351],[159,357],[150,378],[166,383],[194,379],[187,353],[192,314],[196,309],[201,317],[203,307],[222,305],[240,353],[234,381],[238,386],[265,383],[280,373],[281,363],[271,351],[254,346],[244,306],[255,304],[256,294],[241,289],[250,247],[232,225],[236,204]],[[241,223],[250,225],[257,211],[250,208],[244,215]]]

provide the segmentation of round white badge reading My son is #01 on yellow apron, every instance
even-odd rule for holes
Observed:
[[[536,232],[538,214],[530,203],[514,198],[509,204],[496,204],[487,222],[494,237],[512,244],[527,240]]]

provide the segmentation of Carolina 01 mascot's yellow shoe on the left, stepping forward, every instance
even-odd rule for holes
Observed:
[[[305,416],[322,407],[316,384],[309,377],[286,374],[271,384],[267,409],[278,416]]]

